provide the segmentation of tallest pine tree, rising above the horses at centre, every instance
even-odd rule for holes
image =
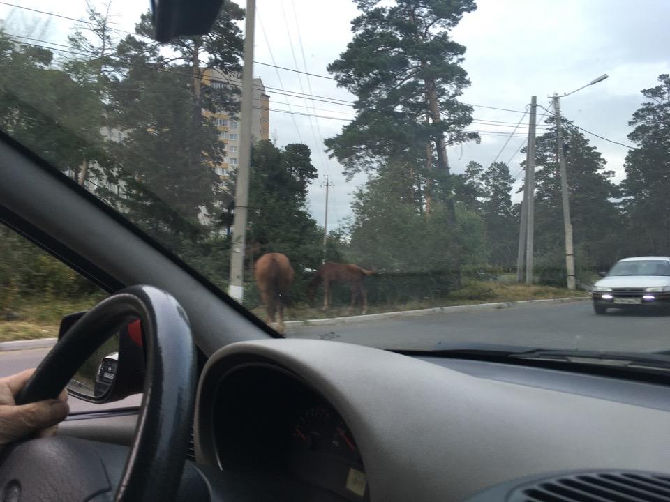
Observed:
[[[405,165],[408,179],[424,179],[424,187],[418,184],[425,192],[426,212],[431,211],[433,186],[441,181],[453,218],[446,146],[478,137],[463,130],[472,121],[472,107],[458,101],[469,84],[461,67],[466,49],[450,32],[464,13],[475,10],[475,3],[378,4],[357,1],[362,14],[352,21],[354,38],[328,67],[338,85],[357,96],[357,116],[326,146],[348,176],[375,172],[389,161]]]

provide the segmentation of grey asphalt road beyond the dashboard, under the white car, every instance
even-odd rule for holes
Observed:
[[[602,351],[670,349],[670,316],[611,310],[590,301],[539,303],[501,310],[429,314],[330,326],[289,328],[287,336],[352,342],[385,349],[431,350],[438,342],[489,343]],[[36,367],[49,349],[0,352],[0,377]],[[73,412],[135,406],[140,396],[99,405],[70,397]]]

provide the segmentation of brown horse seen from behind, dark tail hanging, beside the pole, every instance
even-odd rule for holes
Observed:
[[[256,284],[267,311],[267,323],[271,325],[278,317],[276,329],[279,333],[284,330],[284,307],[289,303],[293,275],[291,262],[283,254],[263,254],[256,261]]]

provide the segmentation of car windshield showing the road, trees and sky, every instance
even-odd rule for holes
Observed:
[[[285,336],[670,349],[670,2],[149,7],[0,2],[0,130]]]

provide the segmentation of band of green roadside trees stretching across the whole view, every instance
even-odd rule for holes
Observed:
[[[479,142],[468,129],[472,107],[459,98],[470,84],[466,47],[452,38],[475,2],[355,3],[352,40],[328,66],[356,96],[355,118],[325,148],[346,176],[364,172],[368,181],[353,194],[347,224],[330,232],[325,258],[382,271],[371,302],[442,296],[468,275],[512,270],[520,209],[509,166],[469,162],[454,174],[447,158],[447,146]],[[206,70],[239,73],[244,10],[225,1],[211,33],[168,45],[151,40],[149,13],[135,35],[119,38],[109,12],[89,5],[86,24],[64,51],[16,27],[0,29],[0,129],[225,288],[234,181],[214,171],[226,151],[212,114],[236,116],[239,88],[211,85]],[[583,284],[620,257],[670,254],[669,75],[641,92],[644,102],[629,123],[636,148],[621,183],[613,183],[588,137],[562,119]],[[563,285],[555,117],[544,126],[535,159],[535,261],[540,281]],[[304,144],[265,141],[251,157],[247,263],[263,252],[287,254],[298,301],[322,261],[322,227],[308,208],[317,178],[310,156]],[[3,255],[21,246],[12,239],[1,245]],[[37,284],[12,266],[0,266],[0,274],[3,286]]]

